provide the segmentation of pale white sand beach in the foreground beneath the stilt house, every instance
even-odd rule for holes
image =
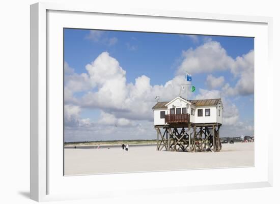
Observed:
[[[221,152],[166,152],[156,146],[65,149],[65,175],[254,166],[254,143],[222,144]]]

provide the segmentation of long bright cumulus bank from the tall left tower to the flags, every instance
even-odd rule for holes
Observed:
[[[152,86],[150,78],[142,75],[135,83],[127,83],[125,70],[108,52],[101,53],[86,69],[95,89],[88,91],[79,104],[101,108],[116,118],[152,120],[155,96],[171,100],[179,94],[180,84],[185,82],[184,76],[176,76],[163,85]]]

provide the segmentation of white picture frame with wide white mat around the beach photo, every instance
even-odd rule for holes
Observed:
[[[133,18],[135,21],[143,22],[147,26],[145,31],[153,31],[151,23],[149,21],[166,22],[169,20],[173,22],[188,22],[195,21],[195,23],[212,23],[213,26],[216,23],[218,26],[241,26],[236,33],[230,33],[231,31],[223,31],[223,35],[245,35],[249,37],[257,38],[258,42],[255,43],[255,127],[256,124],[262,123],[262,115],[268,114],[267,126],[255,128],[255,167],[252,168],[230,168],[230,169],[205,169],[207,173],[215,175],[222,173],[233,173],[236,175],[232,179],[225,181],[214,182],[209,180],[206,183],[200,181],[188,181],[187,183],[177,185],[174,183],[159,183],[156,182],[162,180],[162,177],[182,177],[190,170],[182,171],[165,171],[165,172],[143,172],[143,173],[126,173],[126,174],[103,174],[103,175],[91,175],[91,176],[75,176],[75,177],[63,177],[60,167],[55,165],[63,165],[61,162],[60,153],[63,149],[61,145],[62,140],[60,137],[56,139],[49,139],[48,136],[52,131],[61,132],[61,122],[59,121],[57,127],[53,127],[51,124],[56,121],[50,120],[52,117],[52,111],[61,112],[63,105],[61,101],[52,101],[54,95],[53,87],[54,83],[60,84],[62,78],[61,73],[49,72],[47,67],[52,65],[53,53],[49,52],[52,49],[52,45],[47,44],[47,39],[52,40],[52,35],[61,34],[59,30],[64,23],[67,25],[77,27],[88,27],[89,22],[81,22],[81,19],[91,17],[91,15],[98,15],[100,18],[111,19],[112,17],[118,18],[118,20],[126,20]],[[65,16],[62,17],[62,16]],[[75,18],[71,19],[71,16]],[[54,21],[55,20],[55,23]],[[65,22],[64,22],[65,21]],[[68,21],[68,22],[66,22]],[[69,22],[71,21],[71,23]],[[144,22],[145,21],[145,22]],[[103,22],[106,22],[105,19]],[[119,22],[119,21],[118,21]],[[70,24],[69,24],[70,23]],[[108,22],[109,23],[109,22]],[[191,23],[191,22],[190,22]],[[220,25],[218,25],[220,23]],[[65,25],[66,25],[65,24]],[[160,24],[160,23],[159,23]],[[176,24],[176,23],[175,23]],[[207,25],[207,24],[205,24]],[[251,25],[251,30],[247,32],[246,27]],[[53,27],[51,27],[53,26]],[[101,26],[101,25],[100,25]],[[104,23],[106,28],[106,23]],[[114,27],[115,26],[115,27]],[[125,29],[127,26],[112,25],[110,29]],[[119,26],[119,27],[118,27]],[[150,28],[148,28],[150,26]],[[189,34],[209,34],[207,33],[207,26],[195,26],[192,28],[194,33]],[[254,30],[256,28],[256,30]],[[159,29],[160,28],[154,28]],[[163,29],[163,28],[162,28]],[[164,28],[165,29],[165,28]],[[164,30],[163,29],[163,30]],[[59,31],[58,31],[59,30]],[[143,27],[139,24],[135,24],[135,27],[130,25],[129,30],[143,31]],[[162,31],[163,31],[162,30]],[[218,29],[217,29],[218,30]],[[184,30],[178,30],[178,25],[174,27],[170,26],[164,30],[164,32],[184,33]],[[217,31],[218,32],[218,31]],[[255,32],[255,35],[254,35]],[[218,33],[217,33],[218,34]],[[220,33],[221,34],[221,33]],[[253,34],[253,35],[252,35]],[[258,37],[256,37],[258,36]],[[58,37],[58,36],[57,36]],[[60,37],[58,38],[58,40]],[[55,39],[54,39],[55,41]],[[58,53],[61,51],[62,44],[58,43]],[[268,142],[272,139],[272,130],[270,120],[272,120],[272,105],[268,105],[268,101],[272,99],[272,90],[267,87],[272,87],[272,18],[269,17],[256,17],[256,16],[239,16],[239,15],[221,15],[221,14],[209,14],[209,13],[190,13],[184,11],[161,11],[161,10],[148,10],[148,9],[107,9],[96,8],[94,5],[79,5],[79,4],[54,4],[54,3],[37,3],[31,5],[31,199],[37,201],[48,200],[64,200],[64,199],[81,199],[81,198],[103,198],[106,196],[120,196],[125,193],[131,194],[149,194],[149,193],[166,193],[168,192],[192,192],[192,191],[204,191],[204,190],[219,190],[219,189],[238,189],[238,188],[255,188],[255,187],[270,187],[272,186],[272,144]],[[262,48],[262,50],[260,50]],[[259,49],[259,51],[258,51]],[[61,55],[55,56],[57,59],[56,65],[63,63]],[[264,54],[264,55],[262,55]],[[54,64],[53,64],[54,65]],[[261,74],[260,67],[267,67],[266,75],[264,76],[263,84],[260,84],[258,80]],[[54,81],[54,82],[51,82]],[[55,82],[58,81],[58,82]],[[258,93],[265,91],[267,97],[262,97]],[[55,94],[61,94],[61,88],[55,91]],[[62,97],[62,96],[61,96]],[[50,99],[51,98],[51,99]],[[60,98],[61,99],[61,98]],[[61,106],[57,106],[60,104]],[[258,110],[257,108],[264,105],[265,108]],[[53,107],[58,107],[54,109]],[[63,118],[63,115],[62,115]],[[50,128],[52,127],[52,128]],[[258,135],[265,135],[261,138]],[[63,135],[61,135],[63,138]],[[259,141],[258,141],[259,140]],[[56,143],[55,143],[56,142]],[[49,148],[51,146],[51,153]],[[58,158],[54,158],[53,154],[60,155]],[[255,169],[255,170],[254,170]],[[192,174],[199,173],[201,170],[191,170]],[[248,177],[237,177],[240,172],[248,173]],[[98,185],[93,185],[94,193],[91,190],[87,190],[89,181],[94,178]],[[126,179],[131,181],[129,188],[125,186],[116,185],[120,180]],[[149,185],[147,187],[147,180],[153,181],[155,185]],[[102,185],[103,182],[110,182],[110,187]],[[133,183],[134,182],[134,183]],[[69,184],[75,184],[73,186],[79,186],[79,189],[74,188]],[[57,187],[55,187],[57,186]],[[81,187],[83,186],[83,187]],[[179,188],[180,187],[180,188]],[[63,190],[61,190],[63,189]]]

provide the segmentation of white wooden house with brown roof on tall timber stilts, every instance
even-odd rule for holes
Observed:
[[[186,100],[178,96],[169,102],[157,102],[152,109],[158,151],[221,150],[221,99]]]

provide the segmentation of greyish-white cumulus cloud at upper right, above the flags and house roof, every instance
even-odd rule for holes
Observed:
[[[209,39],[195,49],[189,48],[183,51],[177,74],[182,75],[186,71],[197,74],[226,70],[229,70],[238,80],[234,86],[226,83],[222,88],[223,93],[228,96],[254,94],[254,50],[233,59],[219,42]],[[206,81],[210,89],[219,87],[225,81],[222,77],[216,80],[211,78],[213,76],[209,75]]]

